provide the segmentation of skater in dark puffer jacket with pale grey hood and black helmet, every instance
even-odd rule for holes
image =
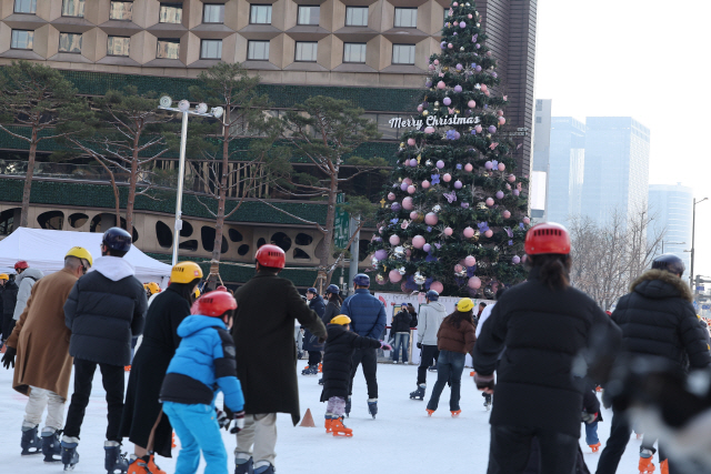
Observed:
[[[64,320],[71,330],[69,354],[74,357],[74,393],[67,412],[62,436],[62,463],[79,461],[77,445],[84,411],[99,365],[107,392],[106,467],[128,468],[120,456],[119,433],[123,411],[123,366],[131,361],[131,337],[143,331],[148,300],[133,266],[123,260],[131,249],[131,235],[120,228],[103,234],[101,258],[80,278],[64,303]]]

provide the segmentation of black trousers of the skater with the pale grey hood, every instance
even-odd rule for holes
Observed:
[[[96,362],[74,359],[74,393],[71,395],[71,403],[67,412],[67,425],[64,435],[79,436],[81,423],[84,420],[84,412],[91,395],[91,383],[97,365],[101,370],[101,381],[103,390],[107,392],[107,405],[109,409],[107,426],[107,441],[121,442],[119,428],[121,425],[121,414],[123,412],[123,366],[97,364]]]

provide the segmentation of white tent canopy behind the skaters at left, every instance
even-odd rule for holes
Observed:
[[[44,274],[54,273],[64,268],[64,255],[72,246],[83,246],[94,259],[101,256],[101,238],[97,232],[19,228],[0,241],[0,271],[12,273],[14,263],[26,260]],[[136,245],[123,258],[133,265],[141,283],[158,282],[163,288],[168,283],[171,266],[151,259]]]

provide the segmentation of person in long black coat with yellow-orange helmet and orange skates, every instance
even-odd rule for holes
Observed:
[[[171,269],[170,285],[157,292],[146,315],[143,341],[136,352],[121,420],[121,436],[133,443],[128,474],[166,474],[154,453],[171,457],[172,427],[158,401],[168,365],[180,344],[178,329],[190,315],[202,270],[194,262]],[[150,301],[150,300],[149,300]]]

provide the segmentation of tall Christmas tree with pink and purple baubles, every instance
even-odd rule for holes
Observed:
[[[495,61],[479,21],[473,3],[451,3],[429,90],[381,201],[372,241],[378,283],[491,297],[525,278],[528,181],[512,173],[507,97],[493,91]]]

